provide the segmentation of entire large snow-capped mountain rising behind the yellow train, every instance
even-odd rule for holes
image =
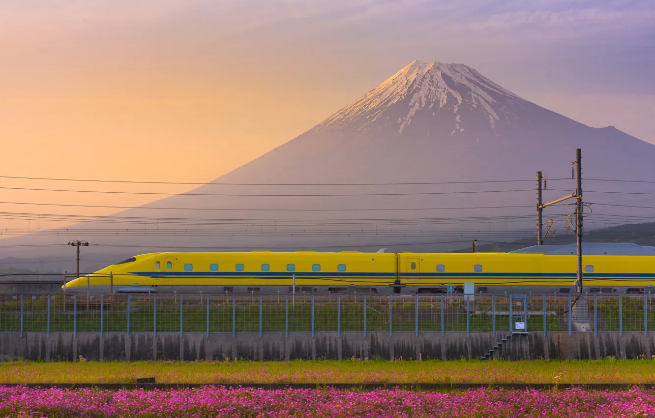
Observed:
[[[544,202],[574,191],[576,148],[591,204],[586,226],[645,214],[607,205],[655,206],[630,194],[641,189],[629,182],[652,180],[655,145],[544,109],[464,64],[414,61],[309,131],[189,193],[56,237],[3,241],[397,250],[511,240],[536,229],[536,171],[548,179]],[[559,230],[573,212],[564,205],[544,211],[544,220],[559,217]]]

